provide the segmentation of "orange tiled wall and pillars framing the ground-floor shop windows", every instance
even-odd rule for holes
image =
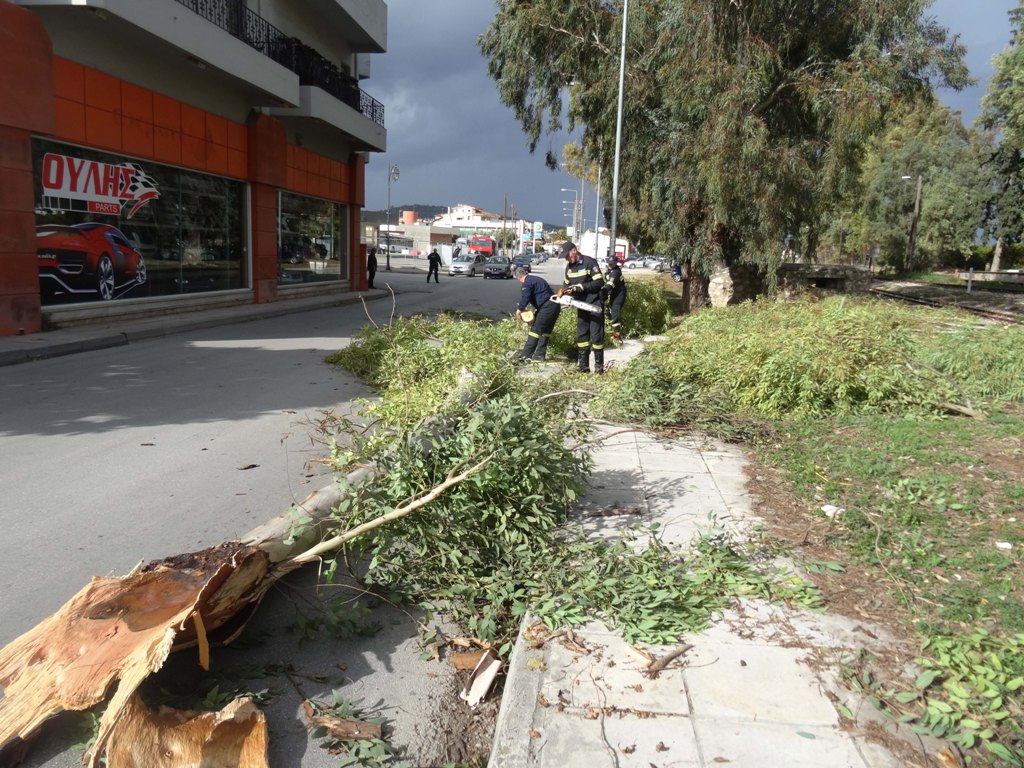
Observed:
[[[276,191],[347,204],[350,283],[366,288],[358,208],[364,161],[340,163],[287,142],[265,115],[236,123],[54,56],[38,16],[0,0],[0,335],[41,330],[32,135],[248,181],[253,300],[278,298]]]

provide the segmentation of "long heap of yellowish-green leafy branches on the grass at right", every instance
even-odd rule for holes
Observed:
[[[629,409],[649,382],[647,397],[677,410],[696,399],[769,419],[944,413],[1024,400],[1022,342],[1021,328],[877,300],[749,303],[688,317],[603,396]]]

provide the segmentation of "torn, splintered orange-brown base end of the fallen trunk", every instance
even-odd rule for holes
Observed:
[[[87,710],[117,691],[100,721],[90,765],[138,685],[177,644],[206,647],[272,583],[262,551],[223,545],[93,579],[65,606],[0,650],[0,746],[28,738],[48,717]],[[230,629],[234,635],[241,626]]]

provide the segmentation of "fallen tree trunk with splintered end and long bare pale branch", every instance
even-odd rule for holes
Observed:
[[[366,481],[368,470],[340,486],[314,492],[297,507],[246,536],[210,549],[136,567],[121,578],[95,578],[56,613],[0,650],[0,765],[43,722],[82,711],[114,693],[99,734],[84,760],[100,764],[130,712],[135,691],[172,649],[198,646],[208,667],[209,636],[238,637],[270,586],[304,563],[390,520],[426,506],[480,471],[490,457],[455,474],[375,520],[326,542],[332,510]],[[312,545],[312,546],[310,546]],[[108,754],[110,758],[110,754]],[[125,764],[129,765],[129,764]],[[124,768],[109,762],[108,768]]]

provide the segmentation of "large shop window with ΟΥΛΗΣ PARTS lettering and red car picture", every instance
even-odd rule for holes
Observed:
[[[246,288],[245,184],[33,140],[44,305]]]

